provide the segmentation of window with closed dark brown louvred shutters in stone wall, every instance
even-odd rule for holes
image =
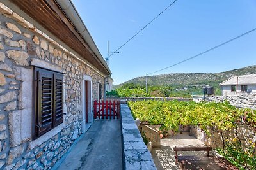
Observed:
[[[63,122],[63,74],[34,67],[33,139]]]

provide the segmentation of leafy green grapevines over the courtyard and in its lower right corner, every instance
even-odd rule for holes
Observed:
[[[237,124],[246,124],[256,130],[256,111],[247,108],[236,108],[227,101],[223,103],[194,101],[135,101],[129,102],[132,114],[141,121],[149,124],[161,124],[161,129],[172,129],[178,132],[179,125],[199,125],[209,134],[209,127],[219,131],[229,131],[236,128]],[[238,138],[238,137],[237,137]],[[255,140],[255,139],[254,139]],[[221,155],[227,157],[230,162],[239,169],[255,169],[255,142],[244,149],[240,139],[224,141],[225,148],[218,149]]]

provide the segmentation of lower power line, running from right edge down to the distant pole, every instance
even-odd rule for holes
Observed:
[[[206,51],[204,51],[204,52],[202,52],[202,53],[198,53],[197,55],[194,55],[193,57],[189,57],[189,58],[186,59],[186,60],[182,60],[182,61],[180,61],[180,62],[177,62],[176,64],[173,64],[172,66],[164,67],[163,69],[159,69],[159,70],[157,70],[157,71],[154,71],[154,72],[148,73],[148,74],[154,74],[154,73],[157,73],[157,72],[159,72],[159,71],[163,71],[164,69],[168,69],[168,68],[170,68],[170,67],[177,66],[177,65],[179,65],[179,64],[181,64],[181,63],[183,63],[183,62],[186,62],[186,61],[188,61],[188,60],[194,59],[195,57],[198,57],[198,56],[200,56],[200,55],[203,55],[204,53],[211,52],[212,50],[215,50],[216,48],[219,48],[220,46],[226,45],[227,43],[230,43],[231,41],[234,41],[234,40],[236,40],[236,39],[238,39],[238,38],[241,38],[242,36],[245,36],[246,34],[249,34],[249,33],[253,32],[253,31],[255,31],[255,30],[256,30],[256,28],[254,28],[254,29],[252,29],[252,30],[250,30],[250,31],[248,31],[248,32],[245,32],[245,33],[243,33],[243,34],[241,34],[241,35],[239,35],[239,36],[236,36],[235,38],[232,38],[232,39],[230,39],[230,40],[228,40],[228,41],[225,41],[224,43],[221,43],[220,45],[214,46],[214,47],[210,48],[209,50],[206,50]]]

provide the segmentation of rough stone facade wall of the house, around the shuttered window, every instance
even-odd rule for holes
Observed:
[[[92,78],[92,99],[104,76],[0,3],[0,169],[51,169],[81,135],[81,82]],[[33,66],[64,74],[64,122],[33,141]],[[103,94],[103,91],[102,91]]]

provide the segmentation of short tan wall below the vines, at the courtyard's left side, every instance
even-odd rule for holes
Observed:
[[[159,125],[160,126],[160,125]],[[154,125],[143,125],[141,124],[141,133],[143,133],[148,141],[152,142],[152,147],[160,147],[160,135]]]

